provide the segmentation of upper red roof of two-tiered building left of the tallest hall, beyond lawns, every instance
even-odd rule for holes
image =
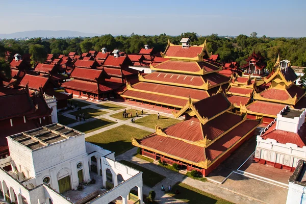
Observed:
[[[75,79],[97,82],[96,79],[100,78],[102,72],[103,71],[99,69],[84,69],[75,67],[70,75]]]

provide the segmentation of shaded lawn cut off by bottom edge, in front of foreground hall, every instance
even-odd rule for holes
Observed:
[[[180,199],[187,203],[192,203],[192,204],[202,204],[202,203],[230,204],[232,203],[227,200],[223,200],[217,196],[214,196],[210,193],[198,190],[196,188],[193,188],[183,183],[175,184],[172,187],[172,192],[175,192],[176,189],[179,189],[180,191],[179,194],[174,194],[174,193],[168,193],[168,194],[176,199]]]

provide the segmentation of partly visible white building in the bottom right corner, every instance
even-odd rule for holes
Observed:
[[[292,176],[289,178],[287,204],[306,203],[306,161],[299,160]]]

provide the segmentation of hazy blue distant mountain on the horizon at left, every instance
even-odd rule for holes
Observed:
[[[78,31],[44,31],[44,30],[37,30],[37,31],[23,31],[17,33],[10,33],[10,34],[0,34],[0,38],[37,38],[37,37],[47,37],[47,38],[66,38],[66,37],[92,37],[92,36],[100,36],[100,34],[94,33],[82,33]]]

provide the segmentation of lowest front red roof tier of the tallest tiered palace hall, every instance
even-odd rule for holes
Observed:
[[[176,106],[183,107],[187,103],[186,99],[175,98],[175,97],[170,97],[170,96],[163,96],[163,95],[152,94],[152,93],[144,93],[144,92],[133,91],[133,90],[125,91],[122,94],[122,97],[137,98],[137,99],[141,99],[143,101],[148,101],[151,103],[173,105],[175,107]]]

